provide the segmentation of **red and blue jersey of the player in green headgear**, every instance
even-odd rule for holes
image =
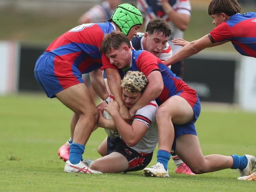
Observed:
[[[102,66],[100,45],[105,34],[116,30],[110,22],[79,25],[55,39],[46,52],[52,52],[76,67],[82,74]]]

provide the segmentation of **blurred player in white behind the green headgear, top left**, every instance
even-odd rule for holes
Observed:
[[[78,23],[89,23],[107,21],[114,13],[116,7],[121,4],[121,0],[105,0],[99,5],[93,6],[85,12],[79,19]]]

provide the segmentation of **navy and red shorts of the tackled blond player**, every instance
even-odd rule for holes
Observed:
[[[128,147],[120,137],[112,138],[108,136],[107,139],[107,155],[113,152],[121,153],[129,163],[128,171],[143,170],[151,161],[152,153],[138,153],[134,149]]]

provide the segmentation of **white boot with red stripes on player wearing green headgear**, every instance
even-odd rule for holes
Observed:
[[[81,161],[78,164],[71,164],[69,160],[66,161],[64,172],[67,173],[87,173],[87,174],[101,174],[101,171],[95,171],[88,168],[84,163]]]

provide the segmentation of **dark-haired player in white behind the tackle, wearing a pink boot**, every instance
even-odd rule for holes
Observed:
[[[140,37],[133,37],[131,47],[135,50],[147,50],[164,61],[172,56],[172,48],[167,43],[171,32],[172,30],[165,19],[159,17],[151,19],[146,26],[145,34],[140,35]],[[173,150],[171,155],[176,166],[176,173],[195,175]]]

